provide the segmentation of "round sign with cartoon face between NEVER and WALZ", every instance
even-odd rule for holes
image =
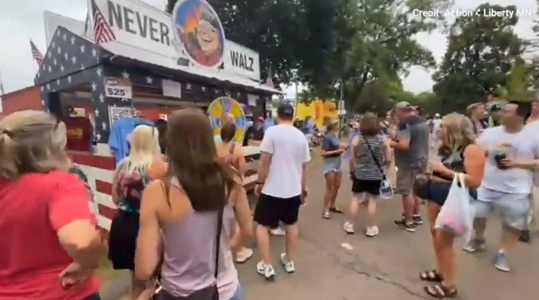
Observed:
[[[172,28],[178,52],[185,52],[198,65],[204,67],[216,67],[222,63],[225,32],[217,13],[208,2],[176,2],[172,10]]]

